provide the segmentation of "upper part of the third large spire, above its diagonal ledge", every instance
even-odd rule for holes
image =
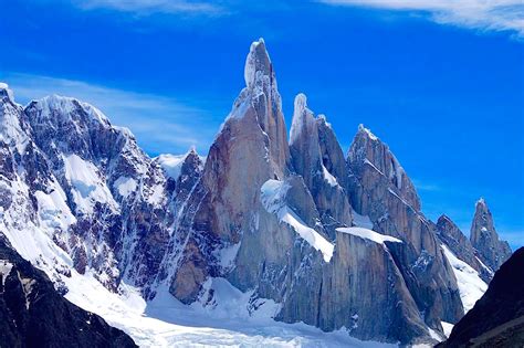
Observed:
[[[390,189],[416,211],[420,211],[420,199],[404,168],[389,147],[363,125],[358,126],[347,157],[352,167],[368,166],[387,178]]]

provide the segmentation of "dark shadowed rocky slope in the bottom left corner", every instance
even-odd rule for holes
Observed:
[[[137,347],[99,316],[63,298],[1,233],[0,341],[2,347]]]

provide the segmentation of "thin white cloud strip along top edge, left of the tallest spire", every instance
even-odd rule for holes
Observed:
[[[84,10],[109,9],[135,14],[222,14],[224,8],[218,1],[186,0],[74,0],[73,4]]]

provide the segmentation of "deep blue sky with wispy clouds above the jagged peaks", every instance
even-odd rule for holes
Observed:
[[[265,39],[287,125],[303,92],[344,150],[385,140],[422,210],[469,235],[474,203],[524,245],[524,6],[518,0],[33,0],[2,3],[0,81],[17,99],[99,107],[151,156],[206,154]]]

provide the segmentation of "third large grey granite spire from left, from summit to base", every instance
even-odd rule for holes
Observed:
[[[347,162],[355,178],[349,191],[357,213],[369,217],[375,231],[405,241],[406,247],[390,251],[425,321],[432,327],[440,327],[441,320],[455,323],[463,308],[453,271],[398,160],[360,126]]]

